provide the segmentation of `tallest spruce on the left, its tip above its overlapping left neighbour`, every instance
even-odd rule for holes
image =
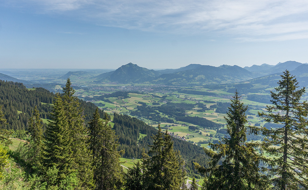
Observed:
[[[91,152],[88,149],[87,128],[84,122],[85,115],[78,98],[74,96],[75,90],[68,78],[63,87],[63,110],[67,120],[67,138],[72,159],[72,167],[78,171],[79,186],[84,189],[93,186],[93,170],[91,167]]]

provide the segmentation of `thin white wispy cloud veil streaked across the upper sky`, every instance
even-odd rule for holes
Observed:
[[[25,1],[29,3],[29,1]],[[101,26],[234,39],[307,38],[306,0],[31,0],[37,11]],[[31,5],[30,5],[31,6]],[[248,41],[249,41],[248,40]]]

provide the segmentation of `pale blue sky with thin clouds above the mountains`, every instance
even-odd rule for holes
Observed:
[[[0,68],[308,62],[307,0],[3,0]]]

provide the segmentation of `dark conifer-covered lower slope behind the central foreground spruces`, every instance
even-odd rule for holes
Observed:
[[[124,156],[141,158],[143,149],[145,152],[148,152],[150,149],[149,145],[152,144],[151,136],[157,133],[155,128],[134,117],[116,113],[114,114],[113,122],[115,123],[113,129],[119,137],[119,148],[125,149]],[[146,134],[147,136],[139,139],[139,133]],[[201,147],[177,138],[172,138],[172,141],[174,142],[173,148],[175,150],[180,150],[181,156],[186,160],[186,166],[190,173],[197,172],[197,170],[193,169],[193,162],[205,164],[208,160],[208,157],[205,156]]]

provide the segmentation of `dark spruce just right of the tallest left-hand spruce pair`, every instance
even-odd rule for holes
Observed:
[[[101,121],[96,108],[90,125],[90,150],[93,155],[95,189],[115,190],[123,186],[123,168],[120,165],[118,137],[108,125],[106,119]]]

